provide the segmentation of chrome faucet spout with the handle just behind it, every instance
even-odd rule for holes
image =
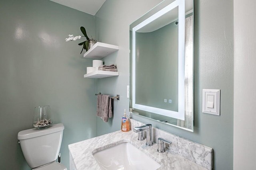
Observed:
[[[142,141],[144,139],[143,137],[143,131],[146,130],[146,145],[147,146],[152,146],[153,141],[152,141],[152,125],[151,124],[146,124],[140,127],[134,127],[133,131],[136,133],[139,133],[138,140]]]

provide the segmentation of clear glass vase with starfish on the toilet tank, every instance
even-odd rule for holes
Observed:
[[[33,126],[37,129],[45,129],[52,124],[50,106],[37,106],[34,109]]]

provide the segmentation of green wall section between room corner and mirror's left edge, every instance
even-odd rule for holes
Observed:
[[[160,3],[161,0],[106,1],[95,16],[95,34],[98,41],[119,45],[119,50],[105,57],[105,64],[116,64],[119,76],[96,80],[96,91],[103,94],[120,94],[120,100],[114,100],[114,116],[104,123],[97,118],[97,135],[121,128],[121,119],[126,109],[129,111],[129,99],[126,98],[126,86],[130,83],[129,65],[129,29],[130,24]],[[136,4],[136,5],[134,5]]]

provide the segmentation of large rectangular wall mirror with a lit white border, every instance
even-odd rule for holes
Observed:
[[[193,131],[193,0],[165,0],[132,23],[130,51],[130,107]]]

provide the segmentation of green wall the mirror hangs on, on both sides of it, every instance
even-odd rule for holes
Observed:
[[[123,109],[128,109],[126,85],[129,84],[129,25],[158,4],[160,0],[107,0],[96,14],[99,41],[120,46],[106,57],[116,63],[120,76],[96,80],[96,90],[115,101],[114,117],[103,123],[97,119],[97,135],[120,129]],[[214,149],[214,169],[233,169],[233,0],[194,0],[194,132],[150,122],[166,131]],[[220,89],[220,116],[202,113],[202,89]]]

